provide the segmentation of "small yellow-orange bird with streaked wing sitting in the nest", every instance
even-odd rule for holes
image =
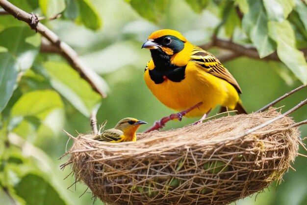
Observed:
[[[127,117],[121,119],[114,128],[104,130],[100,135],[94,137],[93,140],[108,143],[135,142],[136,130],[142,124],[147,124],[147,122]]]

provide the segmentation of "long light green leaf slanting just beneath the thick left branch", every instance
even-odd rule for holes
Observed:
[[[47,72],[45,76],[50,79],[51,86],[80,113],[89,117],[91,111],[100,104],[101,96],[66,63],[48,61],[43,66]]]

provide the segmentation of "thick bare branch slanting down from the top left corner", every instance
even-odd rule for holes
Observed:
[[[47,38],[51,45],[58,48],[61,55],[67,59],[67,61],[70,63],[70,65],[77,70],[77,72],[80,74],[80,76],[86,80],[91,87],[98,92],[102,97],[106,97],[106,94],[103,92],[97,76],[93,70],[88,68],[78,57],[76,51],[74,51],[69,45],[67,45],[65,42],[61,41],[59,37],[52,32],[50,29],[48,29],[43,24],[39,23],[38,17],[34,14],[26,13],[26,11],[16,7],[12,3],[8,2],[7,0],[0,0],[0,6],[8,13],[13,15],[15,18],[17,18],[20,21],[26,22],[32,29],[35,29],[37,32],[39,32],[41,35],[43,35],[45,38]]]

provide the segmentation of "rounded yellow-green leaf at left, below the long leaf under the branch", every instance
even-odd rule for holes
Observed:
[[[22,95],[12,108],[12,117],[44,119],[52,110],[62,108],[61,97],[54,90],[35,90]]]

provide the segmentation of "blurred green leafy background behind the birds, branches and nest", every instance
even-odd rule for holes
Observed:
[[[212,35],[265,57],[277,50],[281,61],[240,56],[222,62],[243,90],[253,112],[285,92],[307,83],[307,5],[303,0],[10,0],[26,12],[46,16],[41,22],[69,44],[98,75],[102,97],[57,53],[40,52],[42,37],[8,14],[0,16],[0,204],[90,205],[90,190],[73,185],[71,172],[59,166],[68,137],[91,130],[89,113],[99,107],[98,124],[106,129],[124,117],[147,121],[143,131],[174,111],[146,87],[143,73],[150,59],[141,45],[157,29],[175,29],[190,42],[204,45]],[[48,18],[61,13],[55,20]],[[44,42],[44,41],[43,41]],[[225,54],[218,47],[209,50]],[[234,51],[235,52],[235,51]],[[278,103],[281,112],[306,99],[301,90]],[[216,114],[218,109],[211,112]],[[307,106],[291,115],[307,118]],[[172,121],[182,127],[197,118]],[[300,127],[307,137],[307,126]],[[67,147],[66,147],[67,146]],[[306,151],[300,148],[300,152]],[[247,197],[237,205],[306,205],[307,159],[297,157],[281,185]],[[85,194],[82,193],[85,191]],[[82,197],[79,197],[82,195]],[[257,197],[256,197],[257,196]],[[256,200],[255,200],[256,198]],[[95,205],[101,205],[97,200]]]

